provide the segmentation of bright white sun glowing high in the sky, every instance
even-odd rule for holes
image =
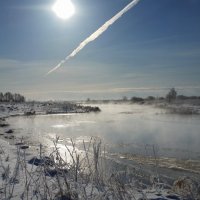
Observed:
[[[61,19],[68,19],[75,13],[75,8],[71,0],[57,0],[52,6],[52,10]]]

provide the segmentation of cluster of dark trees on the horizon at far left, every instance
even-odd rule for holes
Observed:
[[[0,92],[0,102],[25,102],[25,97],[21,94],[12,94],[11,92]]]

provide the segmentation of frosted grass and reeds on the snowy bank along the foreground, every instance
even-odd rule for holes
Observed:
[[[1,142],[0,199],[181,199],[173,189],[184,191],[186,199],[198,199],[198,186],[190,179],[170,187],[152,176],[147,187],[137,180],[136,171],[114,170],[100,140],[83,141],[83,151],[71,140],[71,147],[62,152],[57,141],[48,154],[40,145],[34,157],[20,144],[8,147]]]

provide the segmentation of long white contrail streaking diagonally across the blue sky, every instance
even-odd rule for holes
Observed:
[[[57,70],[62,64],[64,64],[67,60],[74,57],[81,49],[83,49],[88,43],[94,41],[98,38],[104,31],[106,31],[114,22],[116,22],[123,14],[125,14],[128,10],[130,10],[133,6],[135,6],[140,0],[133,0],[129,3],[124,9],[118,12],[115,16],[105,22],[99,29],[97,29],[94,33],[92,33],[88,38],[86,38],[83,42],[79,44],[79,46],[72,51],[70,55],[65,57],[58,65],[56,65],[53,69],[51,69],[46,75],[52,73]]]

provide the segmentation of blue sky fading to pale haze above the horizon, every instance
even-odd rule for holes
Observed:
[[[28,99],[200,95],[200,1],[141,0],[97,40],[44,77],[128,0],[72,0],[63,21],[56,0],[0,1],[0,91]]]

